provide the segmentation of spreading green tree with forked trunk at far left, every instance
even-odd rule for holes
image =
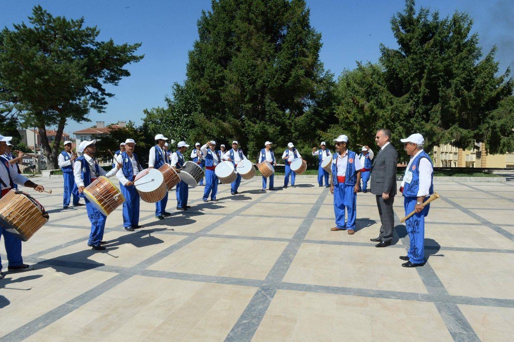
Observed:
[[[59,145],[66,120],[89,121],[90,109],[104,112],[113,97],[104,84],[118,85],[130,76],[126,64],[140,61],[141,45],[98,41],[97,27],[84,19],[53,17],[35,6],[30,26],[14,24],[0,32],[0,103],[16,111],[23,124],[37,127],[45,153],[57,168]],[[53,146],[46,127],[57,125]]]

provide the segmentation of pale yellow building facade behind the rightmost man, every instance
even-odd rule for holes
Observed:
[[[435,146],[432,156],[438,168],[514,168],[514,153],[488,154],[483,142],[476,143],[474,150],[463,150],[449,143]]]

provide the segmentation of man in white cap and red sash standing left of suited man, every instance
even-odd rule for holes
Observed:
[[[332,231],[348,230],[348,234],[355,233],[355,219],[357,218],[357,192],[359,191],[360,171],[362,165],[354,151],[347,149],[348,137],[344,134],[334,139],[336,151],[332,162],[332,179],[330,192],[334,194],[334,212],[336,226]],[[348,213],[347,222],[344,222],[344,209]]]

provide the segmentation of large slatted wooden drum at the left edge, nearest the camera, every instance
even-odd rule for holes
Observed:
[[[0,224],[22,241],[27,241],[48,222],[45,208],[32,196],[11,190],[0,199]]]

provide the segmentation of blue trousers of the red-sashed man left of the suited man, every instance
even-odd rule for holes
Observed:
[[[348,212],[348,220],[344,224],[344,209]],[[334,184],[334,213],[336,214],[336,227],[355,230],[357,217],[357,194],[353,185]]]

